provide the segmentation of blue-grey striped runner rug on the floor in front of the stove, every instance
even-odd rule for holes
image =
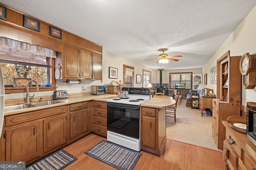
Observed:
[[[85,154],[119,170],[132,170],[142,155],[139,152],[107,141],[101,141],[86,151]]]

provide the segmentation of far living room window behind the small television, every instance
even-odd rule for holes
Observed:
[[[170,73],[170,89],[175,89],[175,83],[185,83],[186,89],[192,89],[192,72]]]

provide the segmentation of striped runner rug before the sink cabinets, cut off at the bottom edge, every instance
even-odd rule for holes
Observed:
[[[31,164],[26,170],[62,170],[76,160],[75,156],[61,149]]]

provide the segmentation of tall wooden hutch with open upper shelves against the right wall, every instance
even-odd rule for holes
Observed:
[[[231,57],[228,51],[217,60],[217,94],[216,99],[212,99],[212,136],[218,149],[221,150],[225,140],[225,127],[222,121],[231,115],[240,116],[240,59],[241,56]]]

